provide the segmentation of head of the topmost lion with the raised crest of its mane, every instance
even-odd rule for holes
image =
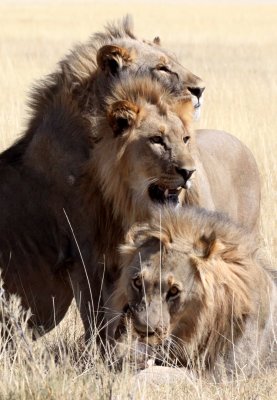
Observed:
[[[86,45],[76,47],[61,67],[74,91],[85,94],[82,108],[87,111],[95,108],[114,78],[128,71],[133,76],[142,74],[158,80],[174,96],[188,96],[194,105],[194,117],[200,115],[205,89],[202,80],[163,49],[157,38],[153,42],[138,40],[128,17],[118,25],[109,25],[104,33],[95,34]],[[90,97],[90,90],[97,92],[97,98]]]

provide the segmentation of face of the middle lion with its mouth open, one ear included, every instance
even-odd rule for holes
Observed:
[[[94,150],[100,181],[110,200],[131,197],[132,208],[179,202],[195,171],[191,132],[170,109],[126,100],[108,110],[110,130]],[[119,207],[118,207],[119,208]],[[126,213],[126,206],[123,207]]]

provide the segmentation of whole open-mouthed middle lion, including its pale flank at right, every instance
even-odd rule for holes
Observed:
[[[95,143],[78,181],[74,207],[83,216],[74,221],[74,212],[68,214],[89,266],[81,275],[79,268],[72,271],[87,332],[93,319],[102,319],[96,321],[100,330],[108,323],[120,242],[157,207],[216,209],[255,232],[259,179],[253,156],[227,134],[213,136],[210,147],[220,146],[222,153],[210,154],[201,134],[191,129],[191,114],[186,97],[176,100],[159,82],[126,74],[114,84],[102,114],[92,120]]]

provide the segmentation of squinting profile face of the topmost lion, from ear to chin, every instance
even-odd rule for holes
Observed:
[[[134,76],[142,74],[158,80],[175,96],[188,96],[194,106],[194,118],[200,117],[205,89],[203,81],[156,43],[116,40],[100,48],[97,62],[106,77],[118,76],[128,69]]]

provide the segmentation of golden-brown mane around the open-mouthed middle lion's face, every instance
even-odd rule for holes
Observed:
[[[114,137],[111,127],[109,126],[109,115],[113,104],[121,103],[125,101],[135,105],[137,118],[133,130],[129,133],[121,135],[119,138]],[[159,126],[164,125],[165,127],[171,127],[172,130],[180,132],[180,127],[183,127],[184,132],[191,135],[192,144],[189,147],[188,159],[194,150],[194,134],[190,129],[191,120],[191,103],[185,103],[182,108],[181,117],[172,112],[175,111],[175,103],[172,96],[158,83],[153,82],[149,78],[131,78],[126,76],[124,82],[118,82],[114,86],[112,95],[106,99],[106,105],[103,108],[102,113],[94,120],[95,130],[97,131],[97,137],[100,139],[95,145],[93,150],[93,157],[90,162],[87,163],[84,172],[84,186],[83,190],[85,196],[88,198],[86,201],[86,209],[90,208],[89,205],[93,204],[93,198],[95,196],[95,189],[86,191],[88,180],[92,180],[92,176],[95,176],[96,182],[93,183],[95,187],[100,187],[101,193],[107,204],[111,204],[113,207],[112,215],[119,217],[123,221],[123,226],[126,228],[130,227],[133,222],[140,220],[147,220],[151,214],[151,210],[148,209],[149,202],[147,202],[146,191],[147,187],[143,187],[141,193],[137,197],[133,195],[132,183],[128,182],[127,171],[128,169],[134,168],[136,159],[136,142],[139,138],[149,137],[147,130],[139,130],[141,121],[148,121],[150,116],[156,115],[152,118],[151,124],[156,126],[158,132]],[[127,112],[127,111],[126,111]],[[107,117],[108,114],[108,117]],[[179,124],[179,125],[178,125]],[[181,132],[182,132],[181,129]],[[92,132],[94,128],[92,127]],[[168,135],[172,139],[172,143],[175,144],[177,139],[168,130]],[[94,134],[93,134],[94,136]],[[180,138],[178,138],[180,140]],[[182,145],[182,138],[180,140]],[[145,146],[146,148],[146,146]],[[178,161],[185,161],[185,146],[183,153],[179,151]],[[161,162],[156,161],[157,165]],[[133,165],[132,165],[133,164]],[[144,171],[145,177],[150,173],[151,169],[154,168],[154,161],[150,157],[147,158],[147,164],[151,167],[145,166],[140,160],[137,161],[141,164],[140,168]],[[170,164],[170,162],[168,163]],[[176,164],[177,165],[177,164]],[[149,171],[150,170],[150,171]],[[155,176],[153,177],[155,178]],[[147,181],[146,181],[147,183]],[[147,207],[143,207],[141,201],[147,203]],[[150,211],[150,214],[149,214]]]

